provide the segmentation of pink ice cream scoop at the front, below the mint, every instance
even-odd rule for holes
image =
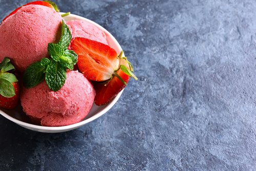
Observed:
[[[92,83],[78,71],[67,71],[64,86],[51,91],[43,81],[23,89],[23,111],[43,126],[65,126],[81,121],[90,112],[95,97]]]

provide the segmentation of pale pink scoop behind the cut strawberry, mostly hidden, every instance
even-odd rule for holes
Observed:
[[[84,20],[70,20],[66,24],[69,26],[73,38],[83,37],[108,45],[106,34],[95,25]]]

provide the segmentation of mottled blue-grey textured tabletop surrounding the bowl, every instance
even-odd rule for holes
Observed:
[[[0,170],[256,170],[255,1],[55,2],[109,30],[139,80],[67,133],[0,116]]]

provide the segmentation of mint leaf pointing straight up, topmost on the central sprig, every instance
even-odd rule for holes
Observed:
[[[59,45],[63,50],[66,50],[69,47],[71,39],[72,35],[69,27],[65,24],[64,20],[62,20],[61,37],[57,45]]]

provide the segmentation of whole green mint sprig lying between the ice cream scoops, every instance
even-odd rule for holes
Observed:
[[[26,88],[35,87],[45,79],[51,90],[61,89],[67,78],[66,70],[73,70],[77,62],[77,54],[68,50],[71,38],[69,28],[62,20],[59,42],[48,44],[47,49],[51,58],[42,58],[41,61],[33,63],[25,71],[23,82]]]

